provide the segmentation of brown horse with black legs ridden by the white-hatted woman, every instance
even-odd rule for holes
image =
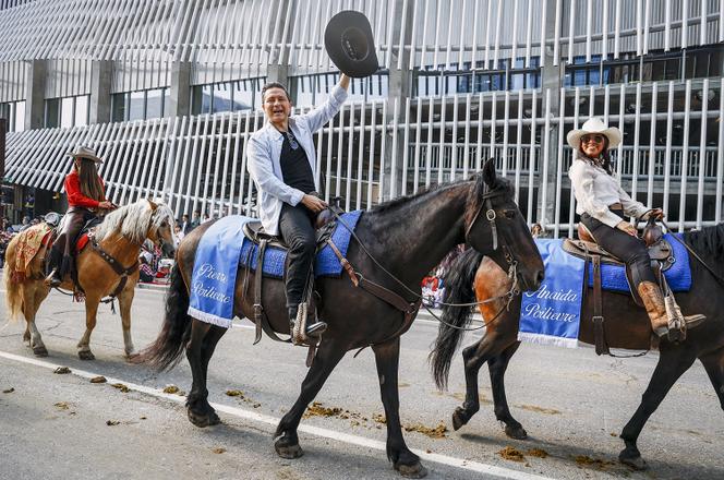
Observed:
[[[724,224],[704,228],[701,231],[684,233],[688,244],[720,277],[724,274]],[[618,458],[635,469],[644,469],[645,461],[637,447],[637,440],[649,417],[656,410],[669,388],[693,362],[699,359],[711,379],[722,409],[724,409],[724,285],[697,260],[689,255],[693,288],[689,292],[676,293],[676,299],[685,312],[707,315],[701,326],[687,333],[687,339],[679,345],[661,340],[660,357],[649,386],[643,393],[641,404],[634,417],[624,427],[620,437],[626,447]],[[482,260],[482,261],[481,261]],[[450,267],[446,281],[447,300],[451,303],[474,301],[483,302],[505,291],[509,280],[488,259],[478,252],[468,251],[460,255]],[[590,292],[591,290],[589,290]],[[581,312],[579,338],[593,344],[592,295],[586,296]],[[643,308],[636,305],[630,296],[603,291],[603,304],[606,313],[606,340],[611,347],[628,349],[648,349],[651,340],[651,324]],[[497,301],[481,303],[484,319],[492,320],[499,311]],[[471,309],[445,307],[443,321],[463,327],[470,322]],[[511,439],[522,440],[528,433],[510,415],[505,395],[504,377],[508,361],[518,349],[518,324],[520,320],[520,299],[510,304],[499,319],[491,321],[485,336],[480,341],[462,350],[466,371],[466,399],[452,413],[455,430],[468,423],[480,409],[478,398],[478,373],[487,362],[495,417],[505,423],[505,433]],[[447,382],[452,355],[460,344],[461,331],[441,324],[439,334],[432,357],[432,367],[437,385],[442,388]]]

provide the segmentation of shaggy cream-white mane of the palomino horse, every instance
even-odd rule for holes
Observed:
[[[164,221],[169,221],[172,225],[173,212],[164,204],[158,204],[158,207],[154,211],[146,199],[141,199],[106,215],[104,223],[96,227],[95,238],[102,241],[120,230],[120,233],[128,240],[143,243],[152,223],[153,226],[160,227]]]

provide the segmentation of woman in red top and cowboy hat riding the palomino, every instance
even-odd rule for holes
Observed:
[[[112,208],[112,204],[106,200],[104,182],[98,176],[97,164],[104,160],[96,156],[95,151],[84,146],[69,155],[73,157],[73,170],[65,176],[64,182],[69,208],[63,229],[50,250],[50,275],[47,281],[51,287],[60,286],[70,272],[73,244],[83,225],[97,216],[99,211]]]

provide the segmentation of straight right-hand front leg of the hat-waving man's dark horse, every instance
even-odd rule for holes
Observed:
[[[400,339],[396,338],[376,345],[372,349],[377,362],[377,376],[387,422],[387,458],[395,466],[395,470],[399,470],[402,476],[422,478],[427,475],[427,470],[420,464],[420,457],[408,448],[400,425],[400,399],[397,385]]]

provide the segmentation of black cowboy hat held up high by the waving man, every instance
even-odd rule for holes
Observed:
[[[379,69],[372,26],[364,13],[345,10],[329,20],[324,46],[340,72],[363,79]]]

